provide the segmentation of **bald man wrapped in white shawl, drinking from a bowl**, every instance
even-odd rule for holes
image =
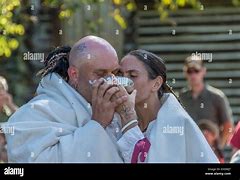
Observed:
[[[106,40],[87,36],[61,69],[67,55],[60,49],[47,57],[37,96],[10,118],[7,126],[15,132],[5,133],[9,162],[123,161],[115,111],[129,97],[102,78],[118,72],[116,51]],[[124,114],[126,123],[136,118],[134,110]]]

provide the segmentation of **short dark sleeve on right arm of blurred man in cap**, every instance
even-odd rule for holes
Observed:
[[[232,120],[232,110],[230,108],[228,99],[225,95],[217,96],[217,111],[220,125]]]

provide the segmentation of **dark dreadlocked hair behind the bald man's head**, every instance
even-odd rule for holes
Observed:
[[[50,73],[58,73],[65,81],[68,81],[68,57],[71,51],[70,46],[61,46],[55,48],[51,51],[47,58],[44,60],[44,68],[41,69],[37,75],[41,75],[43,78],[44,76]]]

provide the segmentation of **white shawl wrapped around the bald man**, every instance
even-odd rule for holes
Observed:
[[[6,134],[9,162],[122,162],[116,134],[111,139],[91,114],[91,106],[59,75],[47,75],[37,96],[6,124],[15,130]]]

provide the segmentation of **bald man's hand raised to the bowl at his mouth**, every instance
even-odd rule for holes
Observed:
[[[115,108],[127,100],[126,95],[119,95],[114,101],[111,97],[119,91],[119,87],[104,82],[101,78],[93,83],[92,91],[92,119],[106,128],[112,121]]]

